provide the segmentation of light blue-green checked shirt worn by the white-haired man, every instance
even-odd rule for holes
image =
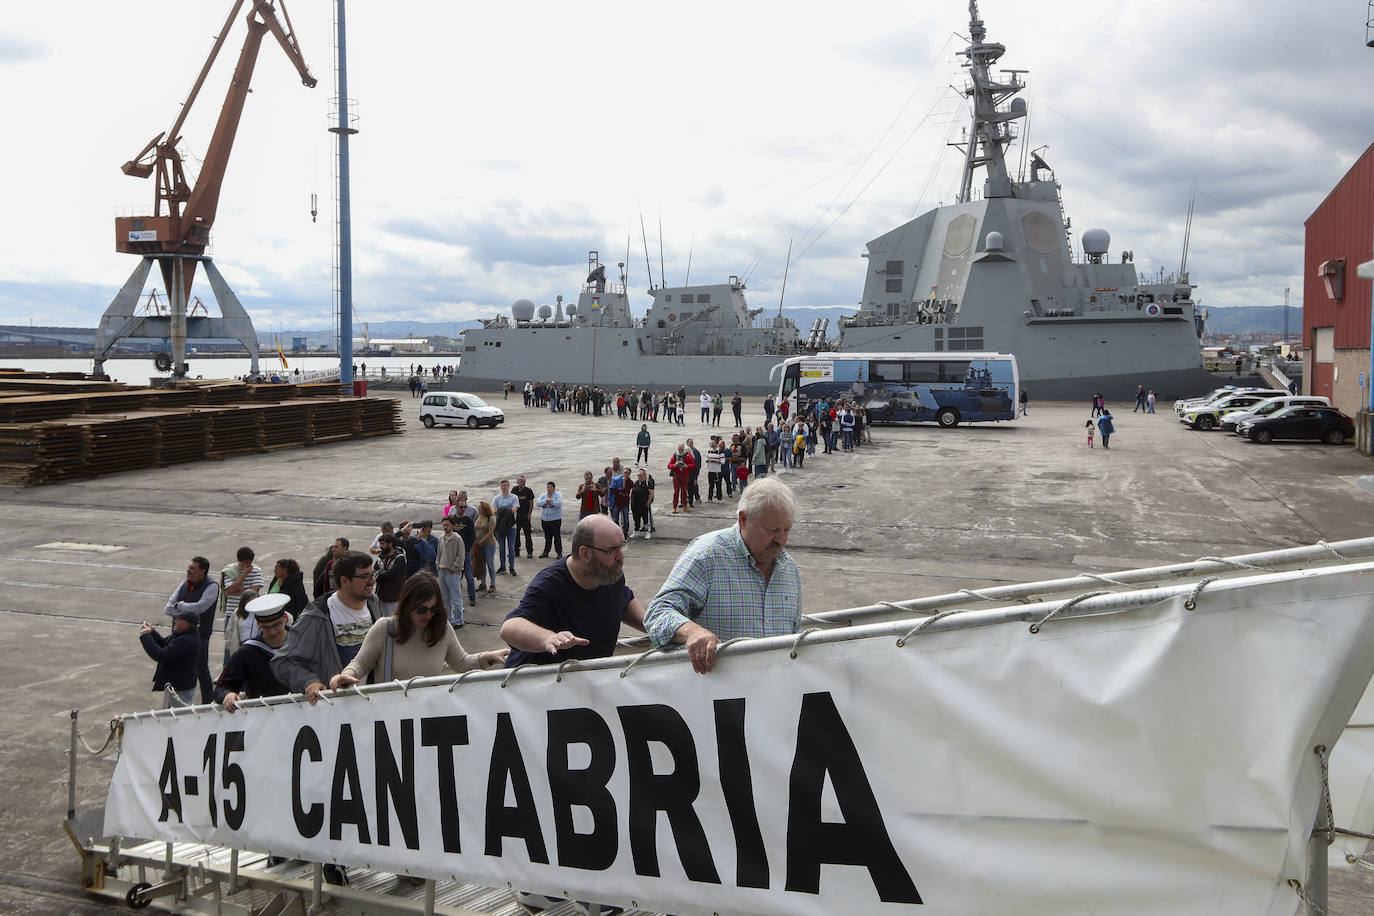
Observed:
[[[721,640],[780,636],[801,630],[801,573],[787,551],[765,580],[739,526],[702,534],[683,551],[664,586],[649,603],[644,629],[655,647],[695,621]]]

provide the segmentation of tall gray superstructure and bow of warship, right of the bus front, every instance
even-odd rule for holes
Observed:
[[[1006,48],[987,40],[977,0],[969,12],[971,40],[962,54],[973,119],[959,195],[868,243],[860,310],[841,321],[838,349],[1015,353],[1037,398],[1208,385],[1202,316],[1187,273],[1142,280],[1134,253],[1112,262],[1103,229],[1084,232],[1083,257],[1074,258],[1046,161],[1032,154],[1025,180],[1009,173],[1006,150],[1026,117],[1017,98],[1025,84],[1020,71],[993,76]]]

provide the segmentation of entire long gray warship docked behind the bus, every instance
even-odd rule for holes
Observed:
[[[956,202],[940,206],[867,244],[863,299],[829,338],[829,319],[802,336],[778,314],[760,320],[745,284],[658,287],[643,319],[629,308],[624,265],[618,283],[592,251],[576,305],[534,308],[464,334],[459,385],[499,387],[545,379],[602,387],[679,387],[691,391],[774,390],[769,371],[783,357],[816,352],[1014,353],[1035,398],[1134,397],[1143,385],[1160,397],[1213,387],[1202,368],[1205,316],[1184,269],[1142,279],[1131,251],[1117,262],[1103,229],[1083,233],[1074,257],[1059,181],[1037,152],[1029,176],[1007,169],[1014,125],[1026,117],[1021,71],[992,76],[1006,48],[987,41],[977,0],[969,3],[970,41],[960,54],[971,125],[960,146]],[[974,176],[982,172],[981,191]]]

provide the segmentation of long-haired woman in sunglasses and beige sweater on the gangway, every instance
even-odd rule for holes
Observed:
[[[386,677],[386,644],[392,643],[392,672]],[[372,623],[363,639],[357,656],[339,673],[330,678],[330,689],[349,687],[367,680],[375,672],[375,681],[405,681],[412,677],[437,677],[444,673],[444,665],[452,673],[470,672],[474,667],[502,667],[508,648],[485,652],[466,652],[458,641],[458,634],[449,626],[444,614],[444,600],[440,597],[438,578],[433,573],[419,571],[405,581],[396,611],[390,617]]]

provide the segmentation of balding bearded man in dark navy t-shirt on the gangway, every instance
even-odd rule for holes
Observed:
[[[644,606],[625,585],[625,534],[605,515],[573,529],[572,551],[539,571],[502,623],[511,647],[506,667],[616,651],[620,625],[644,629]]]

